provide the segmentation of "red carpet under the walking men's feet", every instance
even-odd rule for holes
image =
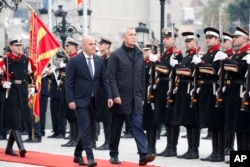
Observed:
[[[30,165],[41,165],[48,167],[74,167],[79,166],[73,162],[72,156],[66,155],[56,155],[49,153],[41,153],[28,151],[25,158],[20,158],[19,156],[9,156],[5,155],[4,149],[0,149],[0,161],[23,163]],[[18,153],[17,150],[15,152]],[[86,159],[84,159],[86,161]],[[112,165],[108,160],[95,159],[97,161],[98,167],[138,167],[137,163],[125,162],[122,161],[121,165]],[[147,167],[156,167],[155,165],[146,165]]]

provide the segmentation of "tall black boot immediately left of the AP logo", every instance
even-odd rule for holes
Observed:
[[[218,136],[218,150],[216,154],[211,158],[211,162],[223,162],[225,161],[224,148],[225,148],[225,134],[223,130],[217,130]]]

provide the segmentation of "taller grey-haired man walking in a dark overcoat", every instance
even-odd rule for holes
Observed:
[[[142,112],[145,96],[145,65],[141,50],[136,47],[136,32],[127,28],[122,33],[123,44],[111,53],[107,73],[114,98],[111,108],[110,163],[120,164],[119,142],[122,126],[129,116],[135,137],[139,165],[144,166],[155,159],[148,154],[147,139],[142,127]]]

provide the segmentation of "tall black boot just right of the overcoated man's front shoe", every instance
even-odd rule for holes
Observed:
[[[171,147],[170,150],[164,154],[164,157],[175,157],[177,156],[177,144],[180,133],[180,126],[171,126],[172,127],[172,135],[171,135]]]

